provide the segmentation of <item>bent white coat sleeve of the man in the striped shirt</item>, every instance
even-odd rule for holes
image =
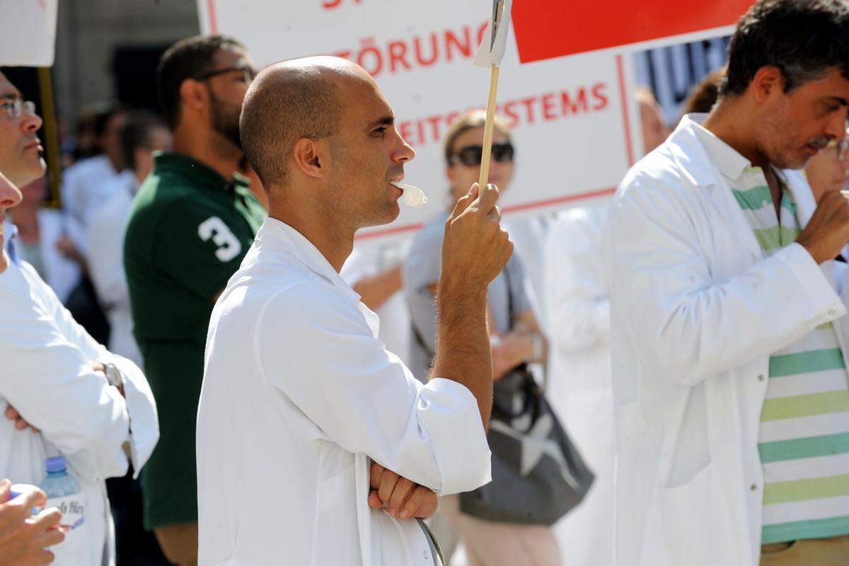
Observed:
[[[698,383],[846,313],[799,244],[717,281],[702,249],[711,241],[707,219],[689,207],[683,191],[648,175],[626,183],[611,207],[604,244],[612,311],[621,313],[612,323],[625,325],[644,361],[662,376]]]

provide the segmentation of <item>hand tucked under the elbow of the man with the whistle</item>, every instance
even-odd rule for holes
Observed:
[[[372,462],[368,507],[385,509],[394,518],[428,518],[436,511],[436,493]]]

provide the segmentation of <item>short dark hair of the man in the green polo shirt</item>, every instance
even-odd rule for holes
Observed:
[[[209,72],[222,49],[245,49],[228,36],[194,36],[181,39],[162,54],[156,69],[156,90],[171,129],[180,121],[180,86],[193,76]]]

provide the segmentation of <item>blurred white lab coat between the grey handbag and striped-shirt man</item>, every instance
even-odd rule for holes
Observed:
[[[569,566],[610,566],[613,560],[610,300],[601,255],[606,219],[607,205],[561,212],[545,252],[548,401],[595,474],[581,505],[555,526]]]

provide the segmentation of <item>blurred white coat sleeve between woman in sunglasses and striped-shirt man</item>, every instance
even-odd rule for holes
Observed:
[[[610,300],[601,229],[568,216],[551,228],[546,249],[548,324],[556,350],[571,354],[610,342]]]

